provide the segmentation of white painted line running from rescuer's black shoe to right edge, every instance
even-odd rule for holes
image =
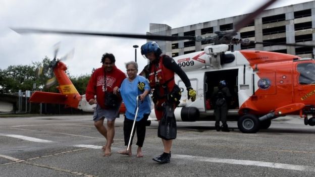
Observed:
[[[286,163],[273,163],[273,162],[263,162],[263,161],[253,161],[253,160],[236,160],[236,159],[226,159],[226,158],[211,158],[211,157],[180,155],[180,154],[172,154],[172,158],[315,172],[315,167],[313,166],[292,165],[292,164],[286,164]]]

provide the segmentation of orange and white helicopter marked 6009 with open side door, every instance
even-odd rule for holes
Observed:
[[[198,121],[202,118],[211,120],[214,110],[207,109],[206,103],[216,89],[218,82],[226,80],[233,96],[228,115],[237,117],[238,128],[243,133],[255,133],[260,128],[267,129],[271,125],[272,119],[288,114],[300,115],[304,118],[305,125],[314,126],[315,75],[313,72],[315,70],[311,69],[315,67],[313,59],[268,51],[228,51],[229,46],[227,44],[264,44],[264,42],[236,39],[233,36],[275,1],[268,1],[237,22],[233,30],[216,32],[216,36],[113,34],[30,28],[15,28],[13,30],[18,33],[97,35],[158,41],[186,39],[210,41],[209,43],[215,43],[215,45],[205,47],[204,51],[174,57],[177,64],[190,78],[192,87],[197,91],[197,99],[191,102],[187,99],[187,91],[182,89],[181,103],[175,109],[175,116],[178,121]],[[294,43],[285,45],[314,47],[314,45]],[[177,76],[175,80],[179,87],[185,88]],[[67,86],[67,88],[69,87]],[[77,98],[73,97],[72,99]],[[312,117],[308,119],[308,115]],[[154,117],[154,114],[152,113],[151,116]]]

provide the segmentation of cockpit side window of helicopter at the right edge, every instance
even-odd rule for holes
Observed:
[[[315,64],[302,63],[297,65],[297,71],[300,73],[299,84],[315,84]]]

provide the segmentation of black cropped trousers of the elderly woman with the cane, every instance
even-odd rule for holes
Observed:
[[[140,121],[136,122],[134,130],[133,130],[130,145],[132,145],[132,140],[133,140],[134,134],[137,131],[137,144],[136,145],[138,145],[139,147],[143,146],[144,137],[145,137],[145,123],[148,119],[148,116],[149,116],[149,114],[144,114],[143,118]],[[133,125],[133,120],[127,119],[125,117],[125,120],[124,120],[125,146],[128,146],[129,138],[130,138],[130,134],[131,134],[131,130],[132,130],[132,125]]]

